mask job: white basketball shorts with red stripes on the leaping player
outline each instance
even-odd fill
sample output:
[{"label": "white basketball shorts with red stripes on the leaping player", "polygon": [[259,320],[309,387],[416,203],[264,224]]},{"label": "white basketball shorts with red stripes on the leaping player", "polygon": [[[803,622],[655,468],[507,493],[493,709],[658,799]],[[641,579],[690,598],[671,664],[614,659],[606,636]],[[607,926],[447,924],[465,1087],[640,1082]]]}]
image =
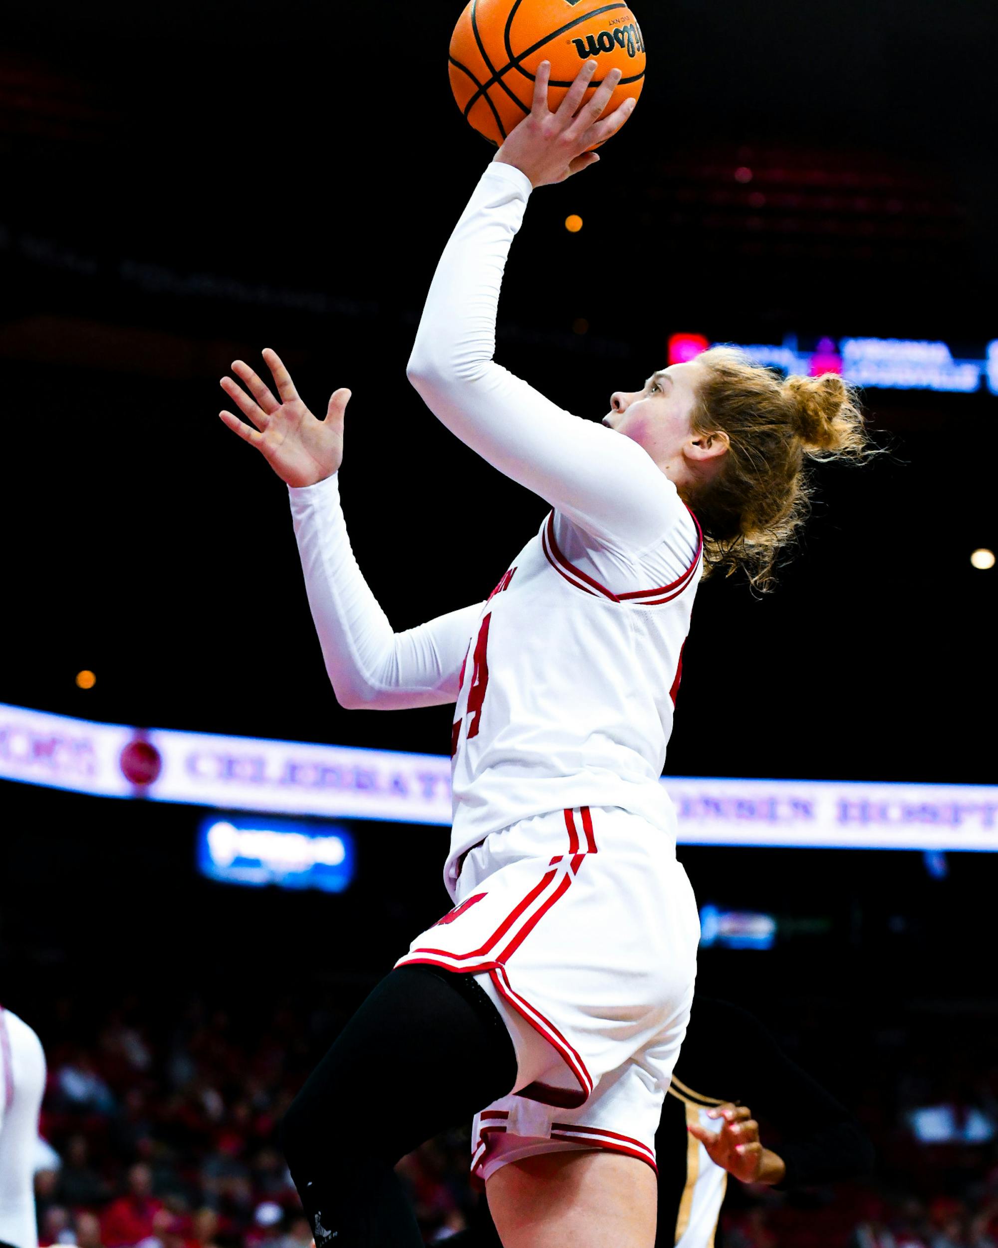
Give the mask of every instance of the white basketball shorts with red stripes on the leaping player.
[{"label": "white basketball shorts with red stripes on the leaping player", "polygon": [[397,965],[475,975],[513,1038],[516,1083],[475,1117],[473,1172],[578,1148],[654,1168],[700,940],[675,841],[618,807],[538,815],[470,850],[457,900]]}]

